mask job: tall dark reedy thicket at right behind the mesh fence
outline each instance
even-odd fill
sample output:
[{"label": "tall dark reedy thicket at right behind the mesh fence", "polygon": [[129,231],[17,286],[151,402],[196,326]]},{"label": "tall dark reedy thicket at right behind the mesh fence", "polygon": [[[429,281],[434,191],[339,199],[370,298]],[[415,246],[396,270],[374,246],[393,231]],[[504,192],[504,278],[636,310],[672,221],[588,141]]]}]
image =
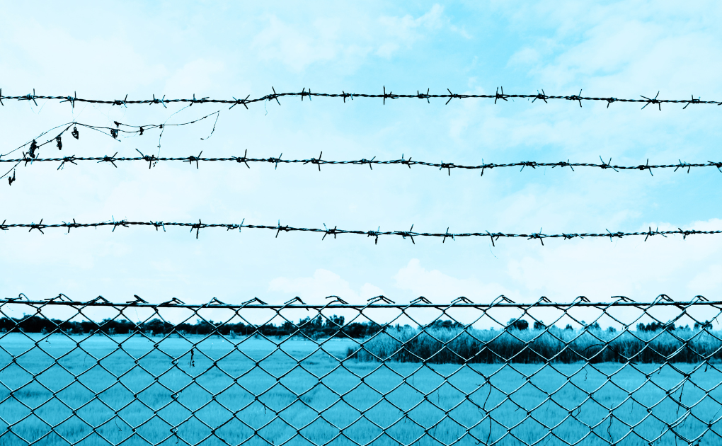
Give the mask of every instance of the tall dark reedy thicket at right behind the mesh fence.
[{"label": "tall dark reedy thicket at right behind the mesh fence", "polygon": [[[592,325],[593,326],[593,325]],[[680,336],[682,335],[682,336]],[[524,331],[474,328],[388,328],[349,348],[360,361],[495,362],[704,362],[722,359],[722,341],[706,331],[580,331],[549,327]]]}]

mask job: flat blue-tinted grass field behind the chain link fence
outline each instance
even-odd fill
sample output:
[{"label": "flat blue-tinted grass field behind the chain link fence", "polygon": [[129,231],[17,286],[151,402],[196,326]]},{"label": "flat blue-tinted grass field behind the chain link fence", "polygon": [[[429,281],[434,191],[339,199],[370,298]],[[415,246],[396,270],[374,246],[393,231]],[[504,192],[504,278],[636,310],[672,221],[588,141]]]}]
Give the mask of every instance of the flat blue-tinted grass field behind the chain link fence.
[{"label": "flat blue-tinted grass field behind the chain link fence", "polygon": [[178,337],[43,336],[0,337],[1,445],[687,444],[669,424],[722,442],[722,374],[699,364],[380,363],[346,359],[352,340],[219,336],[189,338],[191,362]]}]

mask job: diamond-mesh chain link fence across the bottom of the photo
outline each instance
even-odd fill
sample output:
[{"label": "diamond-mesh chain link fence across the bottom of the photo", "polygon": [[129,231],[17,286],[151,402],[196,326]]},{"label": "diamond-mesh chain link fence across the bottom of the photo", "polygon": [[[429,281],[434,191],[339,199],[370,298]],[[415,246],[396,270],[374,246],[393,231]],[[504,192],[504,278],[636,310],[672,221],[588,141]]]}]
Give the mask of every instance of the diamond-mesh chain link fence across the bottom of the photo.
[{"label": "diamond-mesh chain link fence across the bottom of the photo", "polygon": [[2,445],[714,445],[722,302],[0,300]]}]

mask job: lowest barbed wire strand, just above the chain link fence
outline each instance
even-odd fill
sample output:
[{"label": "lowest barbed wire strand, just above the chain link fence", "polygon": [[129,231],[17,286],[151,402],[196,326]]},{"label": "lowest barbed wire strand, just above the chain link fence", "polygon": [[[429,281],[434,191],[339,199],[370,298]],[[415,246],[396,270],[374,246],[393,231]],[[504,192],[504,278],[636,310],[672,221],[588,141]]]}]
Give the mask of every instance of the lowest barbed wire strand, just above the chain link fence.
[{"label": "lowest barbed wire strand, just above the chain link fence", "polygon": [[329,227],[326,226],[326,224],[323,224],[323,229],[321,228],[308,228],[308,227],[292,227],[289,225],[282,225],[281,221],[279,220],[278,224],[269,226],[265,224],[244,224],[245,219],[243,219],[240,224],[236,223],[203,223],[201,222],[201,219],[198,220],[198,223],[191,223],[191,222],[132,222],[126,219],[118,220],[112,219],[111,221],[105,221],[105,222],[96,222],[96,223],[78,223],[73,219],[73,222],[62,222],[62,223],[54,223],[54,224],[43,224],[43,219],[40,219],[39,223],[6,223],[7,220],[4,220],[2,223],[0,223],[0,230],[7,231],[12,228],[29,228],[28,232],[32,232],[33,229],[37,229],[41,233],[43,232],[43,229],[57,229],[57,228],[64,228],[68,229],[68,233],[70,233],[70,229],[73,228],[96,228],[97,227],[113,227],[113,232],[116,231],[118,227],[131,227],[131,226],[152,226],[155,227],[156,231],[158,229],[163,229],[163,232],[165,232],[165,227],[190,227],[191,233],[193,231],[196,231],[196,239],[199,237],[199,233],[201,229],[206,228],[225,228],[227,231],[238,229],[238,232],[240,232],[241,229],[269,229],[271,231],[276,231],[276,237],[279,236],[281,232],[316,232],[323,234],[323,237],[321,240],[326,240],[326,236],[333,235],[334,239],[336,238],[336,235],[344,235],[344,234],[352,234],[352,235],[365,235],[366,237],[373,237],[374,238],[374,244],[378,243],[378,237],[382,235],[396,235],[403,237],[404,240],[406,237],[409,237],[412,243],[414,242],[414,237],[440,237],[442,242],[445,242],[446,239],[456,240],[456,237],[489,237],[490,241],[492,242],[492,245],[495,245],[495,241],[499,240],[500,238],[526,238],[528,240],[539,240],[541,242],[541,245],[544,245],[544,239],[549,238],[562,238],[564,240],[570,240],[573,238],[599,238],[599,237],[609,237],[609,241],[612,241],[614,239],[619,239],[622,237],[640,237],[644,236],[644,240],[646,241],[649,237],[653,237],[655,235],[661,235],[662,237],[667,237],[668,235],[682,235],[683,238],[686,240],[687,236],[689,235],[714,235],[714,234],[722,234],[722,230],[710,230],[710,231],[702,231],[697,229],[671,229],[666,231],[660,231],[658,228],[655,230],[652,230],[651,227],[649,227],[649,230],[646,232],[611,232],[609,229],[606,230],[605,233],[593,233],[593,232],[583,232],[583,233],[562,233],[562,234],[544,234],[541,232],[541,229],[539,229],[539,232],[532,232],[531,234],[510,234],[505,232],[448,232],[448,227],[446,228],[445,232],[414,232],[414,225],[411,225],[411,229],[408,231],[382,231],[380,230],[380,227],[376,229],[375,231],[362,231],[358,229],[338,229],[338,227],[334,226],[333,229],[329,229]]}]

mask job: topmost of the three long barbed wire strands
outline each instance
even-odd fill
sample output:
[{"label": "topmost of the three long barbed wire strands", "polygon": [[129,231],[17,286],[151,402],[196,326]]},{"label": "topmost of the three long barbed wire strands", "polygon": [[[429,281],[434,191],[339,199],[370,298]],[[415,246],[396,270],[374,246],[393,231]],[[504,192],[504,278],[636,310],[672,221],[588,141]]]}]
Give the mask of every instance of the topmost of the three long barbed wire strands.
[{"label": "topmost of the three long barbed wire strands", "polygon": [[[38,102],[36,100],[59,100],[61,102],[70,102],[72,107],[75,107],[75,102],[88,102],[92,104],[108,104],[108,105],[120,105],[127,107],[130,104],[158,104],[162,105],[164,108],[168,108],[168,104],[173,103],[189,103],[191,105],[193,104],[205,104],[205,103],[212,103],[212,104],[230,104],[230,108],[235,107],[236,105],[243,105],[243,107],[248,108],[248,104],[253,104],[254,102],[263,102],[263,101],[276,101],[278,105],[281,105],[281,102],[279,101],[279,97],[300,97],[303,101],[304,97],[308,97],[309,100],[311,100],[312,97],[335,97],[335,98],[341,98],[346,102],[346,100],[354,100],[355,98],[364,97],[364,98],[370,98],[370,99],[381,99],[383,100],[383,104],[386,105],[386,100],[396,100],[396,99],[421,99],[426,100],[428,103],[430,103],[430,99],[436,98],[436,99],[442,99],[446,100],[446,104],[451,102],[453,99],[493,99],[494,103],[496,104],[499,100],[508,101],[509,99],[531,99],[531,102],[536,102],[536,100],[539,100],[540,102],[543,101],[547,103],[549,100],[568,100],[568,101],[574,101],[578,102],[579,106],[582,106],[582,101],[597,101],[597,102],[606,102],[606,107],[609,108],[609,105],[613,102],[632,102],[632,103],[643,103],[645,104],[642,108],[647,107],[647,105],[657,105],[659,110],[661,110],[661,104],[684,104],[684,108],[687,108],[690,104],[710,104],[710,105],[722,105],[722,101],[714,101],[714,100],[701,100],[700,97],[697,97],[695,99],[694,95],[691,95],[690,99],[659,99],[659,92],[654,97],[647,97],[640,95],[640,99],[635,98],[620,98],[620,97],[588,97],[588,96],[582,96],[582,90],[579,90],[578,95],[562,95],[562,96],[555,96],[555,95],[547,95],[544,93],[544,89],[541,89],[541,92],[537,90],[536,94],[531,95],[512,95],[504,92],[503,87],[497,87],[497,90],[495,94],[493,95],[474,95],[474,94],[458,94],[451,92],[451,89],[446,89],[448,91],[448,94],[442,93],[440,95],[434,95],[430,94],[430,89],[427,89],[425,93],[420,92],[417,90],[416,94],[395,94],[389,90],[386,92],[386,86],[383,86],[383,93],[347,93],[345,91],[342,91],[341,93],[314,93],[311,92],[310,89],[306,91],[304,88],[300,92],[276,92],[275,87],[271,87],[273,90],[273,93],[269,95],[264,95],[261,97],[256,97],[254,99],[251,99],[251,95],[247,95],[245,98],[241,97],[236,98],[232,97],[232,100],[228,99],[211,99],[209,97],[201,97],[196,98],[196,95],[193,95],[193,98],[178,98],[178,99],[165,99],[165,95],[163,95],[160,98],[155,97],[153,95],[152,99],[142,99],[142,100],[129,100],[128,95],[125,96],[122,100],[98,100],[98,99],[85,99],[82,97],[77,97],[77,92],[74,93],[74,95],[70,96],[47,96],[47,95],[37,95],[35,94],[35,89],[32,90],[32,94],[27,95],[19,95],[19,96],[3,96],[2,95],[2,89],[0,89],[0,104],[4,105],[2,103],[2,100],[27,100],[32,101],[35,103],[35,105],[38,105]],[[421,90],[423,91],[423,90]]]}]

